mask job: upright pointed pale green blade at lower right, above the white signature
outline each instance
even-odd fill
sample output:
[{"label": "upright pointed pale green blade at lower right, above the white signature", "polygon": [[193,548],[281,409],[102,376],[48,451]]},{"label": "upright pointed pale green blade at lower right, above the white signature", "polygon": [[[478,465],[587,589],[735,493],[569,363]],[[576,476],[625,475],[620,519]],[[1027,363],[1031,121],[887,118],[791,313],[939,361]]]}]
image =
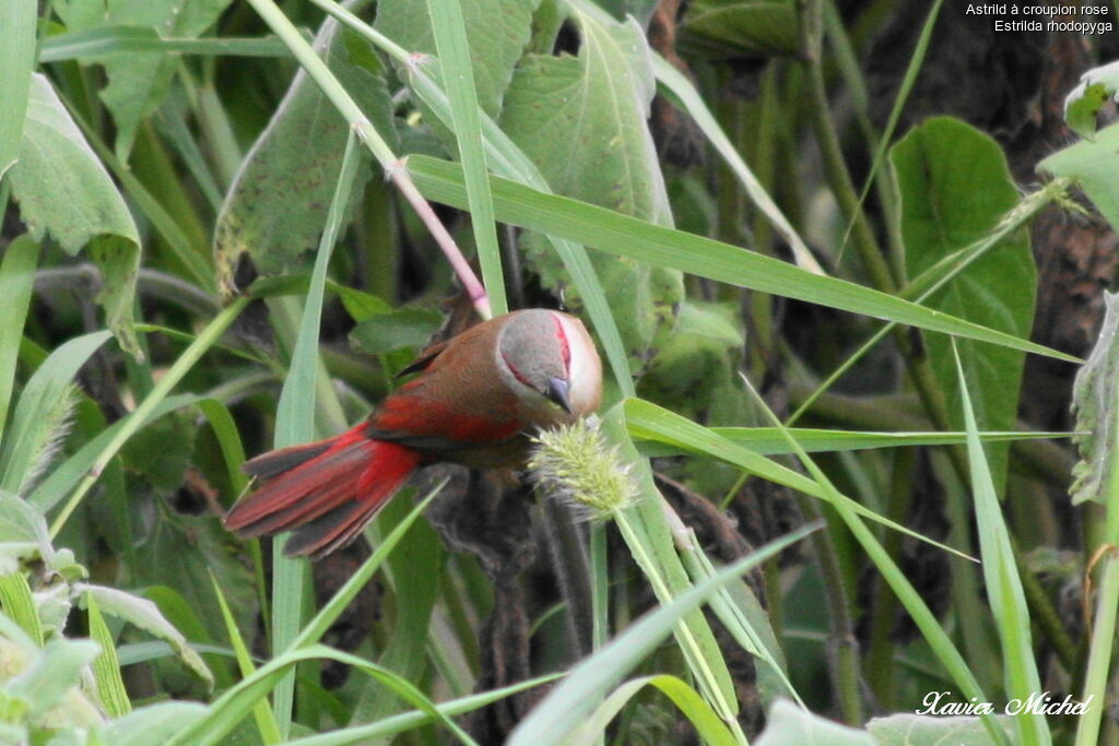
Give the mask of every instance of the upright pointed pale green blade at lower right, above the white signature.
[{"label": "upright pointed pale green blade at lower right, above the white signature", "polygon": [[[990,599],[1003,646],[1006,695],[1025,702],[1031,695],[1043,691],[1029,634],[1029,608],[1026,606],[1026,595],[1022,589],[1022,578],[1018,577],[1010,535],[1003,519],[1003,508],[995,494],[995,483],[987,465],[982,443],[979,441],[963,366],[960,363],[955,344],[952,351],[956,353],[956,371],[960,380],[960,397],[963,405],[963,425],[968,434],[968,462],[971,466],[971,490],[975,492],[979,553],[982,558],[987,597]],[[1053,740],[1049,725],[1041,714],[1023,709],[1015,716],[1015,724],[1022,738],[1021,743],[1027,746],[1033,744],[1047,746]]]}]

